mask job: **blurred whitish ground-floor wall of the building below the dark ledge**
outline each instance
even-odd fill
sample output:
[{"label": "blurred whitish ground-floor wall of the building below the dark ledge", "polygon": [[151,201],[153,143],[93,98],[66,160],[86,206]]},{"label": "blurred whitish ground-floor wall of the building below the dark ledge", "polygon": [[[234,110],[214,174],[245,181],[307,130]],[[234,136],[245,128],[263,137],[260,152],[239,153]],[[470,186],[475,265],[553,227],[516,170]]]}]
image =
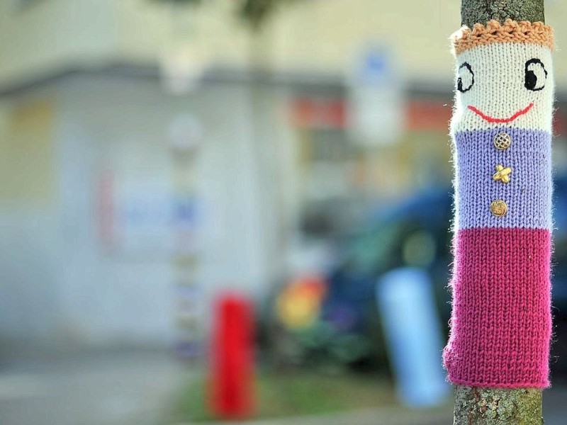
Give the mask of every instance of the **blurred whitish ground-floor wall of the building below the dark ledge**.
[{"label": "blurred whitish ground-floor wall of the building below the dark ledge", "polygon": [[[285,266],[282,227],[291,220],[281,199],[289,193],[282,161],[291,160],[284,147],[292,145],[281,113],[285,89],[252,94],[247,84],[217,84],[172,98],[153,79],[77,76],[42,92],[57,111],[55,195],[52,208],[28,214],[1,205],[0,294],[7,307],[0,309],[0,341],[18,334],[43,346],[173,343],[173,255],[167,243],[120,243],[120,222],[118,248],[109,250],[100,238],[98,191],[101,175],[111,171],[117,198],[167,196],[174,155],[168,126],[179,113],[193,113],[203,125],[203,302],[220,289],[252,296],[269,290]],[[24,97],[34,96],[40,94]],[[155,233],[166,242],[172,237],[161,227]],[[210,311],[203,319],[210,322]]]}]

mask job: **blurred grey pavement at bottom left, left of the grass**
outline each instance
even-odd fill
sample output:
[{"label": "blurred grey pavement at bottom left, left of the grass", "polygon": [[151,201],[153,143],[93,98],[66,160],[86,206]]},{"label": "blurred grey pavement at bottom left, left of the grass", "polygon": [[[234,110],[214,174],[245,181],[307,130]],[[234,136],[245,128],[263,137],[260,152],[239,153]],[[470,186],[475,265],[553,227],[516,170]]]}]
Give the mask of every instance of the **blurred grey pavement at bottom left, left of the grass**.
[{"label": "blurred grey pavement at bottom left, left of the grass", "polygon": [[157,425],[190,373],[164,351],[86,354],[0,370],[2,425]]}]

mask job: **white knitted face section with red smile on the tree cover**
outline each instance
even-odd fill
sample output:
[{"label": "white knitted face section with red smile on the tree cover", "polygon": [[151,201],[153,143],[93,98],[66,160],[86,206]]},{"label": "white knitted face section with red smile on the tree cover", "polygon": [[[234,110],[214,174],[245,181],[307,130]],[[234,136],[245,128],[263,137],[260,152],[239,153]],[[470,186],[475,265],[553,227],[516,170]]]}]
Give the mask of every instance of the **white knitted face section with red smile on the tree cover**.
[{"label": "white knitted face section with red smile on the tree cover", "polygon": [[[526,64],[537,76],[537,86],[541,90],[529,90],[525,84]],[[468,64],[472,74],[468,71]],[[535,44],[515,42],[480,45],[457,55],[456,84],[461,77],[462,89],[456,91],[454,115],[451,120],[451,133],[467,130],[489,130],[498,127],[544,130],[551,132],[551,116],[554,96],[554,76],[551,63],[551,50]],[[460,69],[459,69],[460,68]],[[546,70],[547,76],[543,69]],[[545,81],[544,81],[545,80]],[[532,107],[529,107],[533,103]],[[480,114],[468,108],[472,106],[484,115],[499,122],[491,123]],[[522,113],[526,108],[529,111]],[[509,122],[515,114],[522,113]]]}]

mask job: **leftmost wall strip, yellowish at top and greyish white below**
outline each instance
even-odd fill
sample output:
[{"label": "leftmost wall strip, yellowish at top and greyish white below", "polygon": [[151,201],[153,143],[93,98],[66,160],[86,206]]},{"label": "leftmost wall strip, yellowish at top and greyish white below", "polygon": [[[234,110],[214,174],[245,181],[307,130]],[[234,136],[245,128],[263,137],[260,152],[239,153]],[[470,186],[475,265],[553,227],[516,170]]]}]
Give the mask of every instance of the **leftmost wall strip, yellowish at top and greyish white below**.
[{"label": "leftmost wall strip, yellowish at top and greyish white below", "polygon": [[0,104],[0,356],[57,334],[55,112],[45,90]]}]

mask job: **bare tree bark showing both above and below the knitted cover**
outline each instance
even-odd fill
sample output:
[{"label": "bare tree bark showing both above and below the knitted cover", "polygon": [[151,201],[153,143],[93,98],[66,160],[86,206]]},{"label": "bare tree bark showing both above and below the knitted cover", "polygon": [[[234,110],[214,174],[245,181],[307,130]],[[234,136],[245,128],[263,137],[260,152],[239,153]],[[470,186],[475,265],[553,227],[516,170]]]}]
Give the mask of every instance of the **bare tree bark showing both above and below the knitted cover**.
[{"label": "bare tree bark showing both above and below the knitted cover", "polygon": [[[544,22],[544,0],[461,0],[461,24]],[[454,425],[541,425],[542,390],[455,385]]]}]

